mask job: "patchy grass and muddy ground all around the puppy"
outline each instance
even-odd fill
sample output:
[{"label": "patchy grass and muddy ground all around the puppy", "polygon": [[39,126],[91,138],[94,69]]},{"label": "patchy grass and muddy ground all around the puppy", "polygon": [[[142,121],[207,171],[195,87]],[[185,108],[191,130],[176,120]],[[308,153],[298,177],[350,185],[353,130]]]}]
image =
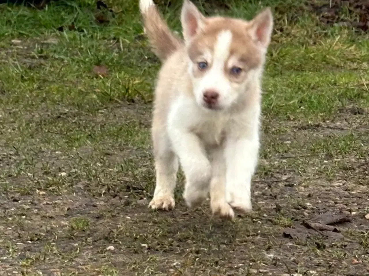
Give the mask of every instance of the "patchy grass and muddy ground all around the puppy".
[{"label": "patchy grass and muddy ground all around the puppy", "polygon": [[[259,2],[196,4],[250,19]],[[262,4],[276,21],[255,210],[232,223],[188,210],[181,187],[172,212],[147,208],[160,64],[136,1],[108,1],[103,24],[90,0],[0,5],[0,275],[368,275],[368,34],[296,17],[301,1]],[[282,236],[327,211],[353,216],[341,240]]]}]

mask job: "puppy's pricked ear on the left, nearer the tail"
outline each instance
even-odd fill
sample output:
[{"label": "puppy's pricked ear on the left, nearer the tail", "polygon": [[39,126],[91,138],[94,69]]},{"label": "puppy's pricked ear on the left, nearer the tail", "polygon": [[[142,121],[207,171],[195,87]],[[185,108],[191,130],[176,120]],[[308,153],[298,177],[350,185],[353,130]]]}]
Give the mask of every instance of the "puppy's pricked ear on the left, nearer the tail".
[{"label": "puppy's pricked ear on the left, nearer the tail", "polygon": [[204,27],[204,15],[190,0],[184,0],[183,2],[181,24],[186,44]]}]

